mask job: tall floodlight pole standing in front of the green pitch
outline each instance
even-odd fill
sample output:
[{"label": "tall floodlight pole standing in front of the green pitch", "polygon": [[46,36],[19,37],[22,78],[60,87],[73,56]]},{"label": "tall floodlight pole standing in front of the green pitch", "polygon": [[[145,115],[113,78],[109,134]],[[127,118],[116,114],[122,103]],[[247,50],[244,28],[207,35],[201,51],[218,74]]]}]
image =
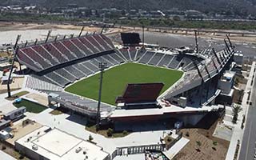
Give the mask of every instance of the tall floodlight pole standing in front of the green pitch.
[{"label": "tall floodlight pole standing in front of the green pitch", "polygon": [[104,70],[106,69],[106,62],[99,62],[98,67],[101,71],[101,77],[100,77],[100,80],[99,80],[99,90],[98,90],[98,110],[97,110],[97,124],[96,124],[96,130],[97,131],[99,130],[99,122],[100,122],[100,119],[101,119],[100,109],[101,109],[101,101],[102,101],[102,80],[103,80]]}]

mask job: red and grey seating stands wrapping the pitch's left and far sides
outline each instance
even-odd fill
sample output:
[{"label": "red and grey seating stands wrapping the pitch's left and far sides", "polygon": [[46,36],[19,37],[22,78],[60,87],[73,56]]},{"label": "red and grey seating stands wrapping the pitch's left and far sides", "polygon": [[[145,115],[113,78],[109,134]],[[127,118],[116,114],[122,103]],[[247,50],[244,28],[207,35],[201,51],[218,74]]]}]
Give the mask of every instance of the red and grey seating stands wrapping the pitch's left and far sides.
[{"label": "red and grey seating stands wrapping the pitch's left and far sides", "polygon": [[[224,62],[222,56],[222,54],[218,54],[221,63]],[[160,52],[135,47],[118,50],[103,34],[91,34],[27,46],[18,50],[17,58],[19,62],[35,71],[33,78],[29,79],[32,85],[27,87],[43,90],[43,86],[45,86],[46,90],[53,91],[60,90],[58,87],[65,87],[81,78],[97,73],[99,62],[106,62],[108,68],[122,62],[139,62],[152,66],[194,71],[194,61],[198,64],[202,61],[202,58],[197,58],[194,55],[177,54],[169,50]],[[214,57],[213,61],[207,64],[207,70],[205,66],[200,66],[200,70],[202,76],[208,78],[207,71],[210,72],[210,76],[213,76],[216,73],[216,68],[220,67],[221,64]]]}]

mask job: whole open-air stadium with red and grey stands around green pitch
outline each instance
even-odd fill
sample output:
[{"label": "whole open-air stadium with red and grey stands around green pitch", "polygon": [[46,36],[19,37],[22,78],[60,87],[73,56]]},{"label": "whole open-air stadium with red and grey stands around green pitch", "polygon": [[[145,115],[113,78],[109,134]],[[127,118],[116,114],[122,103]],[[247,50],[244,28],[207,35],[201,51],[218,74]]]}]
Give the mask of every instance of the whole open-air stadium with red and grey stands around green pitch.
[{"label": "whole open-air stadium with red and grey stands around green pitch", "polygon": [[222,96],[218,82],[233,62],[230,41],[224,50],[196,52],[150,47],[139,44],[138,35],[124,35],[122,46],[96,33],[20,44],[15,60],[26,69],[19,74],[26,74],[27,88],[48,94],[49,104],[95,120],[104,72],[100,122],[115,130],[170,118],[195,125],[223,110],[216,100]]}]

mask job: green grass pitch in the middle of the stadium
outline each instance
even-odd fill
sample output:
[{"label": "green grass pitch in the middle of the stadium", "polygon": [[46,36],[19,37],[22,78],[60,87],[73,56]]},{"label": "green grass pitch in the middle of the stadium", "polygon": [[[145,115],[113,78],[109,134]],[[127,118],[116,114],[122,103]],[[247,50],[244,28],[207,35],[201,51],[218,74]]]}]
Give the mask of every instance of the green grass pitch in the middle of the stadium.
[{"label": "green grass pitch in the middle of the stadium", "polygon": [[[138,63],[126,63],[106,70],[103,75],[102,102],[115,105],[115,99],[121,96],[128,83],[163,82],[161,94],[170,88],[179,78],[182,71],[146,66]],[[66,88],[67,92],[86,98],[98,100],[100,74],[76,82]]]}]

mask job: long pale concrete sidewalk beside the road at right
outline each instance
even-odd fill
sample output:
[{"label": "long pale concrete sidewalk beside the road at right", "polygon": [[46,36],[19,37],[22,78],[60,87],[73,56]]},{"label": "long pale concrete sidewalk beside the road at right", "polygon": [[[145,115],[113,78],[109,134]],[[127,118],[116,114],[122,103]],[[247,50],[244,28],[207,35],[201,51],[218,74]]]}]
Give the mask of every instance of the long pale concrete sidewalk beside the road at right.
[{"label": "long pale concrete sidewalk beside the road at right", "polygon": [[[250,91],[252,89],[252,81],[254,78],[254,69],[256,68],[256,62],[253,62],[251,69],[250,69],[250,74],[248,77],[248,81],[246,83],[246,89],[244,92],[244,96],[242,98],[242,111],[239,112],[238,114],[238,122],[237,124],[234,126],[234,132],[232,134],[232,138],[230,140],[230,146],[229,146],[229,150],[227,151],[226,154],[226,160],[230,160],[230,159],[234,159],[234,154],[235,154],[235,150],[236,150],[236,146],[238,143],[238,140],[240,141],[240,146],[242,144],[242,136],[243,136],[243,132],[244,130],[241,129],[241,125],[242,125],[242,115],[247,115],[248,112],[248,107],[249,104],[247,104],[247,99],[250,96]],[[247,117],[247,116],[246,116]],[[246,124],[246,122],[245,122]],[[239,157],[239,153],[238,153],[238,157]]]}]

